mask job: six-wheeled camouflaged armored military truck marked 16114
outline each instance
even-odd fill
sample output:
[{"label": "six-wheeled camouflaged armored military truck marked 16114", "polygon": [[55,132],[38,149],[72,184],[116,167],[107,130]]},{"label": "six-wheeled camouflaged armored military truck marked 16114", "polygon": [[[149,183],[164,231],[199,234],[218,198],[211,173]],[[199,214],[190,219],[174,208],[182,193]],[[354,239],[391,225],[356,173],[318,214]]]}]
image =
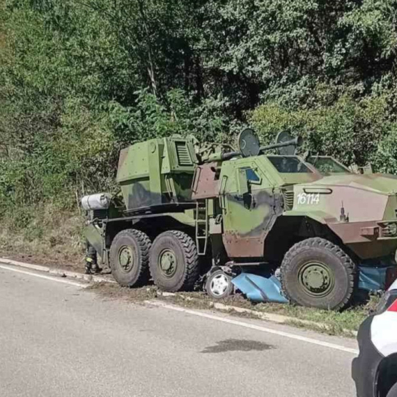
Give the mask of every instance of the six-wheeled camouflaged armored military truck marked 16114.
[{"label": "six-wheeled camouflaged armored military truck marked 16114", "polygon": [[242,269],[279,267],[291,302],[342,309],[359,266],[395,268],[397,177],[299,157],[300,143],[279,134],[260,146],[249,129],[238,150],[194,137],[136,143],[120,152],[120,192],[85,198],[86,238],[121,286],[151,277],[162,290],[191,290],[205,278],[224,297]]}]

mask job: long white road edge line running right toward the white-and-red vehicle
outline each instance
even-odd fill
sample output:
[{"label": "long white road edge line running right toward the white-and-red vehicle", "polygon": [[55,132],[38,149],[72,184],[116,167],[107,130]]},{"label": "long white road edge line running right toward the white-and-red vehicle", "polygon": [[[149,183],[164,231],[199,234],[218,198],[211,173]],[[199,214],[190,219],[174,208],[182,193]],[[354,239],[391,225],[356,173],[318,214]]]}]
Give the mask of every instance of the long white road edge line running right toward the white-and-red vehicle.
[{"label": "long white road edge line running right toward the white-and-red vehicle", "polygon": [[260,325],[250,324],[249,322],[242,322],[242,321],[238,321],[238,320],[232,320],[231,318],[213,316],[212,314],[203,313],[201,311],[184,309],[182,307],[172,306],[170,304],[166,304],[163,302],[155,302],[155,301],[148,300],[148,301],[146,301],[146,303],[153,305],[153,306],[163,307],[164,309],[170,309],[170,310],[180,311],[182,313],[192,314],[192,316],[210,318],[210,320],[227,322],[228,324],[239,325],[240,327],[256,329],[256,331],[267,332],[267,334],[275,334],[275,335],[283,336],[285,338],[295,339],[296,341],[307,342],[307,343],[311,343],[313,345],[319,345],[319,346],[322,346],[325,348],[340,350],[341,352],[352,353],[353,355],[359,354],[359,351],[356,349],[345,348],[345,346],[336,345],[335,343],[318,341],[317,339],[306,338],[306,336],[300,336],[300,335],[290,334],[289,332],[277,331],[276,329],[261,327]]}]

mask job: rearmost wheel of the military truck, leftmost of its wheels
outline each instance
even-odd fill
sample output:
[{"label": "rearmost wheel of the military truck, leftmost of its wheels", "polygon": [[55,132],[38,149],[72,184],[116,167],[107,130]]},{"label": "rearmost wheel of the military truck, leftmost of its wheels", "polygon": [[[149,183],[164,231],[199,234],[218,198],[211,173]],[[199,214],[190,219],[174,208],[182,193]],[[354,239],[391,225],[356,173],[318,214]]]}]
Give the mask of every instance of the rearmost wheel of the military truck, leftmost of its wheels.
[{"label": "rearmost wheel of the military truck, leftmost of its wheels", "polygon": [[110,268],[123,287],[143,286],[149,280],[148,236],[136,229],[120,231],[110,247]]}]

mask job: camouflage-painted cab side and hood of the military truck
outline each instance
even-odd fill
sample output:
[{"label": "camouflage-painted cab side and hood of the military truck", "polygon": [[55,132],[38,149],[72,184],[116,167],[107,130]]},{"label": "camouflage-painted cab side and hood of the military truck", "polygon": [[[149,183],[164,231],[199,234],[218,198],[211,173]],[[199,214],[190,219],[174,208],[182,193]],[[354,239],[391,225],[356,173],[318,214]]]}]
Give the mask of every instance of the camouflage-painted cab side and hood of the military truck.
[{"label": "camouflage-painted cab side and hood of the military truck", "polygon": [[[322,176],[307,165],[307,173],[280,173],[266,155],[222,164],[219,196],[228,256],[263,257],[267,235],[278,217],[313,219],[362,259],[394,254],[397,177],[353,173]],[[240,182],[241,169],[254,171],[256,180],[248,177]],[[292,204],[289,208],[288,201]],[[384,235],[388,224],[395,224],[395,235]]]}]

